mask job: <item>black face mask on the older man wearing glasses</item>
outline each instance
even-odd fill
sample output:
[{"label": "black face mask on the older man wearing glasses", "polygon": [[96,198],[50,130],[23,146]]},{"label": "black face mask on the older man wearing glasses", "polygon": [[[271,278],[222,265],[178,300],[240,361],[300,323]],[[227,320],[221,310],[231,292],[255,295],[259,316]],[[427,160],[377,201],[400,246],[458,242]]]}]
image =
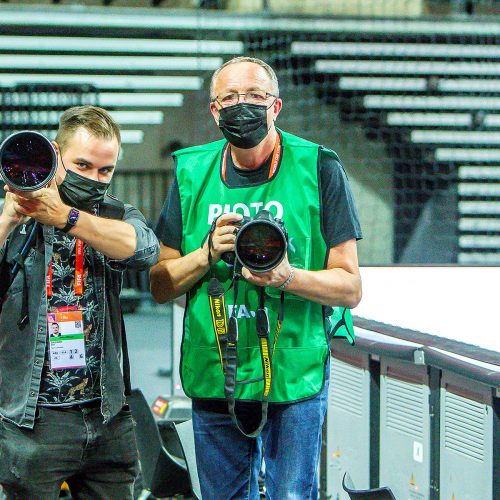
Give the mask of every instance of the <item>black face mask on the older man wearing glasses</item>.
[{"label": "black face mask on the older man wearing glasses", "polygon": [[[271,104],[272,106],[272,104]],[[219,128],[230,144],[241,149],[250,149],[266,137],[267,106],[240,102],[219,109]]]}]

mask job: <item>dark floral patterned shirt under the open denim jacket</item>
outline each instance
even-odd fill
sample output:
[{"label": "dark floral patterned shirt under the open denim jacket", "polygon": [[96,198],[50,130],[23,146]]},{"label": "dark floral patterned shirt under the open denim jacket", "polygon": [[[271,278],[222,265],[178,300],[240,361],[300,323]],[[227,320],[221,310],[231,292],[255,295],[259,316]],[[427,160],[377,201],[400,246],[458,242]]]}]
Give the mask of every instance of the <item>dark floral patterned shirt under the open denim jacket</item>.
[{"label": "dark floral patterned shirt under the open denim jacket", "polygon": [[99,325],[99,301],[94,286],[93,252],[85,245],[83,294],[75,295],[76,239],[58,229],[54,232],[52,258],[52,296],[48,312],[67,309],[81,310],[85,336],[87,366],[72,369],[50,369],[49,342],[45,350],[38,404],[42,406],[69,406],[100,398],[102,329]]}]

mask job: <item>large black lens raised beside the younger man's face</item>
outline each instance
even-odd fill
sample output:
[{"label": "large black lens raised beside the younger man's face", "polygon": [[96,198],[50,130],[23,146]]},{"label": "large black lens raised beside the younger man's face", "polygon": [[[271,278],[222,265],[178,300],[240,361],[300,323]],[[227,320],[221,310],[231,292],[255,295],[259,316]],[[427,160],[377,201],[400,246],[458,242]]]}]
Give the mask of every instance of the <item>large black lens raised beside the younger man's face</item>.
[{"label": "large black lens raised beside the younger man's face", "polygon": [[50,182],[57,156],[50,141],[38,132],[16,132],[0,146],[0,174],[18,191],[36,191]]}]

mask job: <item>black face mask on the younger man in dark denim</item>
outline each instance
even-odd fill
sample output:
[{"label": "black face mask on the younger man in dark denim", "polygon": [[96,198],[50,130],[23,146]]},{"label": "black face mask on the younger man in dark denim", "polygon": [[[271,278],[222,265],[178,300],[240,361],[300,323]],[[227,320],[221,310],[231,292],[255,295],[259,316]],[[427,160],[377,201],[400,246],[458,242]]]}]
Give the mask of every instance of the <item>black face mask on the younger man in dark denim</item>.
[{"label": "black face mask on the younger man in dark denim", "polygon": [[94,181],[72,170],[66,170],[66,177],[59,185],[62,200],[70,207],[92,212],[104,200],[109,183]]}]

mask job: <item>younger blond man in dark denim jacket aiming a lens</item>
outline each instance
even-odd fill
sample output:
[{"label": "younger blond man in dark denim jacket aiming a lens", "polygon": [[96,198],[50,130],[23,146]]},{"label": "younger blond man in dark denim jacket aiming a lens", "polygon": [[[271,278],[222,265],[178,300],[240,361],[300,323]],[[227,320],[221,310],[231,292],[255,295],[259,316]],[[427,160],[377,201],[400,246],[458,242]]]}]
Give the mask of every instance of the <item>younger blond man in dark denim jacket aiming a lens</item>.
[{"label": "younger blond man in dark denim jacket aiming a lens", "polygon": [[[157,260],[142,214],[107,194],[120,130],[70,108],[53,143],[55,178],[7,191],[0,271],[21,261],[0,313],[0,484],[8,499],[132,498],[138,472],[121,372],[121,274]],[[51,337],[49,324],[64,332]]]}]

